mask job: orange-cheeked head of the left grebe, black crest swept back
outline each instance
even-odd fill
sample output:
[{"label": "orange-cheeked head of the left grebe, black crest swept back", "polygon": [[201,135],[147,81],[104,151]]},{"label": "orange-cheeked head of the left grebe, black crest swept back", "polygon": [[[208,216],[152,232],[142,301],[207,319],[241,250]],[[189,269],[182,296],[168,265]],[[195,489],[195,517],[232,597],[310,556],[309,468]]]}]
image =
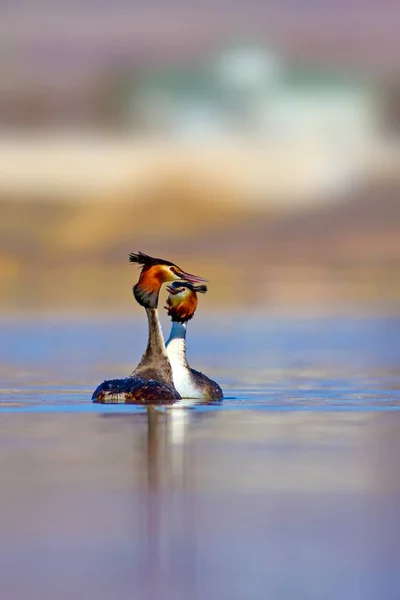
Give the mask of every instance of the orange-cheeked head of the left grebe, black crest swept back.
[{"label": "orange-cheeked head of the left grebe, black crest swept back", "polygon": [[158,294],[163,283],[185,280],[189,284],[207,281],[186,273],[174,263],[162,258],[152,258],[143,252],[131,253],[129,260],[142,265],[138,283],[133,288],[136,300],[145,308],[157,308]]}]

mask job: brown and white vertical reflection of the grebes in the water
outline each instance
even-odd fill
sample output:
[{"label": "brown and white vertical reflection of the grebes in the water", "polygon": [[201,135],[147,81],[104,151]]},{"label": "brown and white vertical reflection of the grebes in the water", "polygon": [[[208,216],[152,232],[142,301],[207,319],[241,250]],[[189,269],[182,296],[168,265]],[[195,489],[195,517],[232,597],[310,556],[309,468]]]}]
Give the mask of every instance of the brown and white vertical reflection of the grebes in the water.
[{"label": "brown and white vertical reflection of the grebes in the water", "polygon": [[[194,419],[208,418],[213,413],[196,412],[196,404],[199,402],[186,400],[168,408],[146,407],[140,465],[136,462],[135,440],[134,489],[138,468],[143,482],[138,530],[134,534],[139,533],[140,539],[135,586],[140,582],[141,597],[149,600],[163,597],[166,589],[174,593],[171,597],[197,589],[197,461],[193,440],[188,440]],[[143,416],[140,413],[130,418],[143,422]]]}]

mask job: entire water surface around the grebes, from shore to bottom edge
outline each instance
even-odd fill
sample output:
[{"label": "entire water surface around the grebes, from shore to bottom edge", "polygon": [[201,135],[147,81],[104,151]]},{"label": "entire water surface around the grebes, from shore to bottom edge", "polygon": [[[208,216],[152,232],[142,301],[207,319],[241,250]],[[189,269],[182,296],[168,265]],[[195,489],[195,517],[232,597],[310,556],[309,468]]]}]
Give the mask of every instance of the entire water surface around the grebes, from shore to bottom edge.
[{"label": "entire water surface around the grebes, from shore to bottom edge", "polygon": [[[167,324],[165,324],[165,330]],[[190,324],[218,405],[94,405],[143,322],[0,323],[7,600],[398,600],[400,321]]]}]

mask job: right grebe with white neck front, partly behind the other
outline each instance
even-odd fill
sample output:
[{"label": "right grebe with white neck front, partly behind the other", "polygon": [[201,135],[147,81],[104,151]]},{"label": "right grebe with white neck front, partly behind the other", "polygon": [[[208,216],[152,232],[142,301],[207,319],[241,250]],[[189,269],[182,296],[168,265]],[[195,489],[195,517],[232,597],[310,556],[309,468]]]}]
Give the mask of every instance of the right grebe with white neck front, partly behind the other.
[{"label": "right grebe with white neck front, partly behind the other", "polygon": [[176,281],[167,287],[168,314],[172,320],[171,333],[166,348],[172,367],[175,389],[182,398],[221,400],[223,393],[218,383],[203,373],[191,369],[186,359],[187,322],[193,318],[197,308],[197,293],[205,294],[207,286],[192,282]]}]

